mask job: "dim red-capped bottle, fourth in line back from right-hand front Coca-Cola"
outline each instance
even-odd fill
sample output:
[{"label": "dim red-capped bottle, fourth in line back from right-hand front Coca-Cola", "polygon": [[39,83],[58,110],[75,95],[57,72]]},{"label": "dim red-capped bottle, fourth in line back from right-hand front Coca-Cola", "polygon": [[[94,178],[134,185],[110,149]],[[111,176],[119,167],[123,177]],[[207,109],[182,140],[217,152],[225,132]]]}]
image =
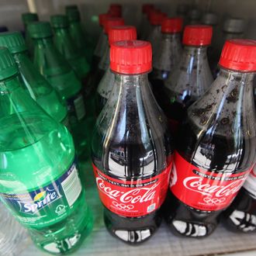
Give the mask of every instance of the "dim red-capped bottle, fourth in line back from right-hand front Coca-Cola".
[{"label": "dim red-capped bottle, fourth in line back from right-hand front Coca-Cola", "polygon": [[150,12],[150,33],[147,36],[147,41],[152,44],[152,54],[156,53],[161,41],[161,23],[167,15],[164,12],[154,10]]}]

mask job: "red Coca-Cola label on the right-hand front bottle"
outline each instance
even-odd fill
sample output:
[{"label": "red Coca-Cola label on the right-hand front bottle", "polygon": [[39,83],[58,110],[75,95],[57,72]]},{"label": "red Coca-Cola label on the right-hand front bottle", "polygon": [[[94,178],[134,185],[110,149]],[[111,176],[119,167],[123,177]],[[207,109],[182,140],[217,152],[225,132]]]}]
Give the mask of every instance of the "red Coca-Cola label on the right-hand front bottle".
[{"label": "red Coca-Cola label on the right-hand front bottle", "polygon": [[230,205],[251,169],[223,174],[195,167],[175,152],[171,172],[171,192],[186,205],[216,211]]}]

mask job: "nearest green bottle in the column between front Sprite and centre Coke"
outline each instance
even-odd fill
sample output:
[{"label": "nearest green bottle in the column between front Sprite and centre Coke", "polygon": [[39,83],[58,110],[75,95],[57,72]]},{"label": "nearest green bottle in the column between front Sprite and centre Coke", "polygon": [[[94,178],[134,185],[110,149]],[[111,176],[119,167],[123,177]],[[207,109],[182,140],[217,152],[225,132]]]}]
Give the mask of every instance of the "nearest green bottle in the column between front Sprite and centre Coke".
[{"label": "nearest green bottle in the column between front Sprite and centre Coke", "polygon": [[29,23],[29,34],[33,38],[34,64],[40,74],[50,82],[61,98],[67,102],[67,111],[78,156],[85,160],[89,156],[87,142],[88,127],[85,120],[85,103],[78,80],[71,66],[54,46],[49,22]]}]

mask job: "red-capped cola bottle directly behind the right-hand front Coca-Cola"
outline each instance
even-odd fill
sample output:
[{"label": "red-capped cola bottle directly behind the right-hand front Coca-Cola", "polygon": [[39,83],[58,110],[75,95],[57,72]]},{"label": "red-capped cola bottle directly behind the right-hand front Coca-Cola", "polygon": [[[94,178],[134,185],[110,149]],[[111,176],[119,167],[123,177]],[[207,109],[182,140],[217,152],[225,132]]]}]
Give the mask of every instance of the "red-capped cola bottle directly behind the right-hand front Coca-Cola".
[{"label": "red-capped cola bottle directly behind the right-hand front Coca-Cola", "polygon": [[164,81],[165,93],[161,102],[173,132],[178,130],[179,123],[185,118],[186,109],[213,82],[207,59],[207,47],[211,43],[212,33],[211,26],[185,26],[182,57]]}]

